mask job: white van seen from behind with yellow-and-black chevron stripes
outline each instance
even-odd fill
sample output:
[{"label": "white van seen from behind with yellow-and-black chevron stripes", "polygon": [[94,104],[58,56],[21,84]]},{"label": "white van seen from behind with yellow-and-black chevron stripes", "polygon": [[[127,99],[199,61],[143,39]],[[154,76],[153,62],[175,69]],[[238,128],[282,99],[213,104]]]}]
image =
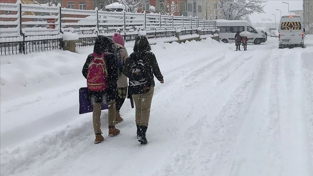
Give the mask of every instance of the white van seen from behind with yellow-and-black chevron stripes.
[{"label": "white van seen from behind with yellow-and-black chevron stripes", "polygon": [[304,28],[300,15],[285,15],[280,19],[278,34],[279,48],[304,48]]}]

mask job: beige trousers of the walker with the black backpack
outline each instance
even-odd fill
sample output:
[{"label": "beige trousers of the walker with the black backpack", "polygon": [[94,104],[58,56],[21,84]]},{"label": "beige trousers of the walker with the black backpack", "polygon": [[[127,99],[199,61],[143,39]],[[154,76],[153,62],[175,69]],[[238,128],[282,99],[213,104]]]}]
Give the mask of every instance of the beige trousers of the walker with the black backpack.
[{"label": "beige trousers of the walker with the black backpack", "polygon": [[148,127],[153,93],[154,87],[151,87],[147,93],[133,95],[136,106],[136,125]]}]

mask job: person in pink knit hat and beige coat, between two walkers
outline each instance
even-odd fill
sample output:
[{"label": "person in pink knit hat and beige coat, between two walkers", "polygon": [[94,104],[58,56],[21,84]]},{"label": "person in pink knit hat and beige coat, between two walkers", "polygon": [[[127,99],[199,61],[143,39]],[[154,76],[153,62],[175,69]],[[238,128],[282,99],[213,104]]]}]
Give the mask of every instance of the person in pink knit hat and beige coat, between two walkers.
[{"label": "person in pink knit hat and beige coat, between two walkers", "polygon": [[118,70],[119,70],[119,78],[117,80],[117,90],[118,97],[116,98],[116,123],[120,123],[123,121],[123,118],[120,114],[120,109],[126,99],[127,96],[127,77],[123,74],[124,63],[126,58],[128,57],[127,50],[125,48],[124,38],[121,34],[115,33],[112,37],[112,40],[115,43],[115,47],[117,50],[117,60],[118,60]]}]

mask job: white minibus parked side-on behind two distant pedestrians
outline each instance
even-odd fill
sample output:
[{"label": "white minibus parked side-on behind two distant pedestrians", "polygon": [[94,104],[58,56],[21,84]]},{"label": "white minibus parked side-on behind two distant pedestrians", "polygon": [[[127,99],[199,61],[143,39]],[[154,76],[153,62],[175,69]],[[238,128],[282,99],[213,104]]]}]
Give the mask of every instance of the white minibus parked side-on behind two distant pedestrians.
[{"label": "white minibus parked side-on behind two distant pedestrians", "polygon": [[218,19],[217,27],[219,28],[219,38],[222,42],[235,42],[237,32],[248,31],[251,33],[248,43],[261,44],[266,41],[265,35],[255,29],[248,21],[245,20],[224,20]]}]

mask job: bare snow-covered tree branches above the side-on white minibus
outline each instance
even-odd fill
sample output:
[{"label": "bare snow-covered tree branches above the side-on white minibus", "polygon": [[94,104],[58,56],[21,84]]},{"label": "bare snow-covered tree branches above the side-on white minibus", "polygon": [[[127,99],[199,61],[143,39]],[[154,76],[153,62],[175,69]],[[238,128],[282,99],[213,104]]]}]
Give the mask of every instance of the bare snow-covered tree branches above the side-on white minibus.
[{"label": "bare snow-covered tree branches above the side-on white minibus", "polygon": [[252,13],[264,13],[264,0],[220,0],[217,10],[227,20],[241,20]]}]

